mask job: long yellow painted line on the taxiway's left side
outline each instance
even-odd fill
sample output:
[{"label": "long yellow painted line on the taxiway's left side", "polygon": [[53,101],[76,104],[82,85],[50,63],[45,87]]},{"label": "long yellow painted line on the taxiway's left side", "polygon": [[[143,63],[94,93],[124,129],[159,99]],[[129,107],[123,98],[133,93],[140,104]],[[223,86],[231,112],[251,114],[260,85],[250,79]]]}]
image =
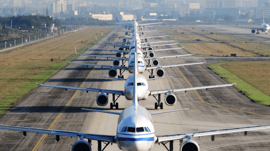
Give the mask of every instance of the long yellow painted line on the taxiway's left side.
[{"label": "long yellow painted line on the taxiway's left side", "polygon": [[[107,51],[106,51],[107,53]],[[105,53],[105,54],[106,54]],[[101,59],[100,59],[101,60]],[[100,62],[99,60],[99,62]],[[97,62],[97,64],[99,64],[99,62]],[[94,67],[95,68],[95,67]],[[92,74],[92,72],[94,71],[94,68],[92,69],[92,71],[89,73],[89,75],[85,78],[85,81],[83,81],[83,83],[80,85],[80,87],[82,87],[85,83],[86,83],[86,79],[88,79],[90,77],[90,75]],[[56,124],[56,122],[60,119],[60,117],[63,115],[63,113],[65,112],[66,108],[70,105],[70,103],[73,101],[73,99],[76,97],[76,95],[78,94],[80,90],[77,90],[75,92],[75,94],[72,96],[72,98],[68,101],[68,103],[66,104],[65,108],[63,108],[63,110],[59,113],[59,115],[56,117],[56,119],[53,121],[52,125],[50,125],[50,127],[48,129],[52,129],[53,126]],[[36,144],[36,146],[33,148],[32,151],[36,151],[38,149],[38,147],[41,145],[41,143],[45,140],[45,138],[47,137],[47,134],[44,134],[42,136],[42,138],[39,140],[39,142]]]}]

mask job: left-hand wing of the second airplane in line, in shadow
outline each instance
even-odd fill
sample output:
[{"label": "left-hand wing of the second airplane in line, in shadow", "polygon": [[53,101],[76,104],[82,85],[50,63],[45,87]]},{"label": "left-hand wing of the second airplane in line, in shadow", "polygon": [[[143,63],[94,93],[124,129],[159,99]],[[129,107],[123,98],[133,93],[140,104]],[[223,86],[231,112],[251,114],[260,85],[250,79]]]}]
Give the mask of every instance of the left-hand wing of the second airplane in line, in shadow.
[{"label": "left-hand wing of the second airplane in line, in shadow", "polygon": [[92,92],[103,92],[103,93],[110,93],[110,94],[118,94],[124,95],[124,91],[118,90],[105,90],[105,89],[97,89],[97,88],[82,88],[82,87],[70,87],[70,86],[61,86],[61,85],[48,85],[48,84],[38,84],[42,87],[53,87],[53,88],[63,88],[63,89],[72,89],[72,90],[83,90],[83,91],[92,91]]}]

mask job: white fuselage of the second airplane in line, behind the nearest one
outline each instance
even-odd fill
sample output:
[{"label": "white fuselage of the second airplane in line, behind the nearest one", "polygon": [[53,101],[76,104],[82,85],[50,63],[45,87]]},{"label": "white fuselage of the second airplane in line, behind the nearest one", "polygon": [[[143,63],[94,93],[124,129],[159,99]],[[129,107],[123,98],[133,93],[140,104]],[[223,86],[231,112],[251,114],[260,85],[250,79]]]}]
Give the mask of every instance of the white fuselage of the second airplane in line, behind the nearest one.
[{"label": "white fuselage of the second airplane in line, behind the nearest one", "polygon": [[[146,78],[141,74],[137,74],[137,87],[138,100],[146,100],[150,94],[150,91],[148,90],[148,83]],[[124,94],[126,99],[133,99],[133,74],[130,75],[126,80]]]}]

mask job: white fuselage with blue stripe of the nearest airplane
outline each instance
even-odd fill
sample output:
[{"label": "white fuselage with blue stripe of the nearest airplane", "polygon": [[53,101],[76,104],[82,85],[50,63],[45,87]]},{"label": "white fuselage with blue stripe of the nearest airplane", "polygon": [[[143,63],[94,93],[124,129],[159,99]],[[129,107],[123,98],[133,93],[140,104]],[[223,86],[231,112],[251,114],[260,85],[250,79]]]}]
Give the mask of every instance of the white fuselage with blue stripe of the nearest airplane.
[{"label": "white fuselage with blue stripe of the nearest airplane", "polygon": [[118,118],[116,142],[124,151],[150,150],[157,140],[152,117],[144,107],[137,106],[136,111],[134,108],[132,105],[121,112]]}]

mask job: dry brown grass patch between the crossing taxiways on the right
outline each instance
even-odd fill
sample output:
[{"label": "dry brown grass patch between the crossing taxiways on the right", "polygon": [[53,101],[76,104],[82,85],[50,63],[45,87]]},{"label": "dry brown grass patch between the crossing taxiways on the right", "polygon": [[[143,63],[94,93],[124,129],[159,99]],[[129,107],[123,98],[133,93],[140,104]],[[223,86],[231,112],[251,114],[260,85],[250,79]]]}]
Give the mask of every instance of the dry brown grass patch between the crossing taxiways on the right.
[{"label": "dry brown grass patch between the crossing taxiways on the right", "polygon": [[258,57],[257,54],[242,51],[241,49],[234,48],[224,43],[187,43],[180,44],[188,52],[194,52],[197,47],[196,54],[213,55],[213,56],[231,56],[231,54],[237,54],[240,56]]}]

